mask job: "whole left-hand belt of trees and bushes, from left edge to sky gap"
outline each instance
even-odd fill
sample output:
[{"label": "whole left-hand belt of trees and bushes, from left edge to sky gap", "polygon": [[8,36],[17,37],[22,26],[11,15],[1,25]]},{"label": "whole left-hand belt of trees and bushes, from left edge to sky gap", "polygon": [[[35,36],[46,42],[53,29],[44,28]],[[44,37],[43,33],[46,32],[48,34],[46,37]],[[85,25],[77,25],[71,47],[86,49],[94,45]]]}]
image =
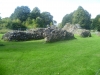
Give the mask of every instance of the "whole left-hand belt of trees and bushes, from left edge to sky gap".
[{"label": "whole left-hand belt of trees and bushes, from left edge to sky gap", "polygon": [[32,11],[28,6],[18,6],[10,17],[0,19],[0,28],[26,29],[46,27],[56,22],[49,12],[40,12],[38,7]]}]

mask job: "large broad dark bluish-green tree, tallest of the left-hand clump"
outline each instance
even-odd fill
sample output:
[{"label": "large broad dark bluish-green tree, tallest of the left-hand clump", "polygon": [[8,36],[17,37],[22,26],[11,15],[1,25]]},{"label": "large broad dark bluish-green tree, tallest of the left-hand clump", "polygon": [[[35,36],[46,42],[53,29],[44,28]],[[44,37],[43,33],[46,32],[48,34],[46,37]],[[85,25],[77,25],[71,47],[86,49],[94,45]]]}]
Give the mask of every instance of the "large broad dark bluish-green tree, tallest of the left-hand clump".
[{"label": "large broad dark bluish-green tree, tallest of the left-hand clump", "polygon": [[23,22],[27,19],[29,14],[30,14],[30,8],[28,8],[28,6],[21,6],[21,7],[18,6],[15,9],[14,13],[11,14],[10,18],[19,19]]}]

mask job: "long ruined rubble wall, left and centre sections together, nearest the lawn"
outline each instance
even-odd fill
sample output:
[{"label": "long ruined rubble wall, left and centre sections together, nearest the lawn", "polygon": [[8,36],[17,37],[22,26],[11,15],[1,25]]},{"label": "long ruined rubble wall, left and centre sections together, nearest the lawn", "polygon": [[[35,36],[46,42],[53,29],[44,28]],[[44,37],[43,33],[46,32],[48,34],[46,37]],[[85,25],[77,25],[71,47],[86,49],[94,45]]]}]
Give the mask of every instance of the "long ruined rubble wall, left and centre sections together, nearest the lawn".
[{"label": "long ruined rubble wall, left and centre sections together, nearest the lawn", "polygon": [[5,41],[27,41],[45,39],[45,42],[73,39],[74,34],[62,29],[37,28],[27,31],[11,31],[3,35]]}]

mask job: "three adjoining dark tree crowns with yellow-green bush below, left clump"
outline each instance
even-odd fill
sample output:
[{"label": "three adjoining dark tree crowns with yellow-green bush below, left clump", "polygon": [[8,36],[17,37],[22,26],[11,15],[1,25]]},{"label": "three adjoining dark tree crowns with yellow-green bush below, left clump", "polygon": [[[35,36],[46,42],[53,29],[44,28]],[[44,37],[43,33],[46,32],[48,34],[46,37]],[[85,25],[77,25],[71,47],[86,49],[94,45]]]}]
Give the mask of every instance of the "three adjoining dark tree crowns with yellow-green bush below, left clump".
[{"label": "three adjoining dark tree crowns with yellow-green bush below, left clump", "polygon": [[14,13],[10,16],[12,20],[19,19],[22,25],[32,27],[46,27],[47,25],[53,24],[53,16],[49,12],[40,12],[38,7],[33,8],[30,12],[30,8],[27,6],[21,6],[15,8]]}]

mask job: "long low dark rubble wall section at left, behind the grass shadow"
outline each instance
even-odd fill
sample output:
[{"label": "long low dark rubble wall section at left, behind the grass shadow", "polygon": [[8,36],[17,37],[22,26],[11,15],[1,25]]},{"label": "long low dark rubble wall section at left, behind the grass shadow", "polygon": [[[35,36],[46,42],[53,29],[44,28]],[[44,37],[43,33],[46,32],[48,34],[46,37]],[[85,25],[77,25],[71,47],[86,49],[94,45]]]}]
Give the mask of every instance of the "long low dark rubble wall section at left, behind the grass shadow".
[{"label": "long low dark rubble wall section at left, behind the grass shadow", "polygon": [[43,29],[35,29],[28,31],[11,31],[3,35],[2,39],[6,41],[26,41],[43,39]]}]

